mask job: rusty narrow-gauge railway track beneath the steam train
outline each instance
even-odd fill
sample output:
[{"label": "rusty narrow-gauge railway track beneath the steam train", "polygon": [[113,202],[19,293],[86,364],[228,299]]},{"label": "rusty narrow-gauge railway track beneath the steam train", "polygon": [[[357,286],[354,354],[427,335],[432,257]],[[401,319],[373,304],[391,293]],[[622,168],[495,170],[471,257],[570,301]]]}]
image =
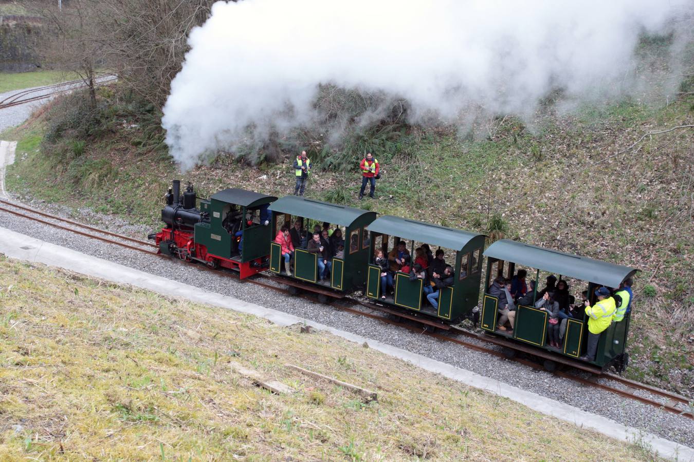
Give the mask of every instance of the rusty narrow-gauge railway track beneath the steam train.
[{"label": "rusty narrow-gauge railway track beneath the steam train", "polygon": [[[129,236],[124,236],[118,233],[112,233],[110,231],[103,231],[94,226],[75,222],[73,220],[67,220],[65,218],[58,217],[56,215],[51,215],[49,213],[36,211],[33,208],[28,208],[21,204],[15,204],[13,202],[9,202],[3,199],[0,199],[0,204],[2,204],[0,205],[0,211],[11,213],[12,215],[17,215],[19,217],[24,217],[29,220],[41,222],[49,226],[54,226],[58,229],[63,229],[66,231],[77,233],[81,236],[86,236],[88,238],[101,240],[102,242],[106,242],[109,244],[118,245],[127,249],[132,249],[144,252],[146,254],[151,254],[153,256],[158,256],[160,258],[167,258],[168,260],[171,260],[171,258],[168,256],[157,254],[156,251],[153,250],[153,247],[155,248],[156,246],[153,245],[151,242],[137,240],[135,238],[130,238]],[[12,210],[12,208],[14,208],[15,210]],[[91,231],[91,233],[83,230]],[[99,233],[101,236],[95,236],[94,233]],[[276,276],[260,274],[260,278],[239,279],[234,272],[228,270],[220,271],[219,269],[210,269],[208,267],[205,267],[204,265],[198,265],[194,262],[184,262],[183,260],[180,261],[189,265],[193,265],[197,269],[201,269],[203,271],[215,272],[217,274],[219,274],[220,272],[229,274],[232,277],[236,277],[237,280],[242,283],[253,283],[282,293],[289,292],[289,290],[285,289],[284,287],[280,287],[272,283],[266,283],[260,280],[264,278],[275,283],[279,283],[280,285],[285,285],[285,281],[276,278]],[[314,300],[314,297],[309,296],[308,294],[302,294],[301,296],[303,296],[306,299]],[[403,316],[403,313],[394,313],[388,309],[380,309],[376,305],[373,305],[371,303],[365,303],[364,301],[360,301],[358,299],[350,297],[345,297],[344,299],[336,299],[334,301],[330,301],[329,304],[334,308],[337,308],[338,310],[342,310],[352,314],[357,314],[359,316],[366,316],[371,319],[376,319],[384,323],[389,323],[393,326],[398,326],[407,330],[411,330],[413,332],[417,332],[421,335],[428,335],[429,337],[439,339],[440,341],[447,341],[453,344],[458,344],[460,346],[464,346],[465,348],[480,351],[482,353],[487,353],[489,355],[494,355],[496,357],[506,357],[505,353],[498,350],[497,348],[493,348],[493,344],[489,344],[489,341],[486,341],[479,334],[471,332],[470,330],[459,328],[457,326],[447,326],[445,324],[436,323],[435,321],[427,321],[423,324],[417,324],[415,323],[416,321],[413,321],[412,319],[402,321],[403,317],[407,318],[407,316]],[[360,309],[355,308],[354,305],[358,305]],[[396,314],[396,316],[398,316],[398,319],[390,319],[388,317],[389,314]],[[437,333],[434,331],[435,329],[432,330],[432,327],[441,328],[446,332]],[[529,359],[514,357],[511,360],[532,368],[543,368],[543,366],[541,366],[540,364],[530,361]],[[588,378],[581,377],[580,375],[577,375],[575,373],[568,373],[564,371],[555,371],[554,374],[568,380],[573,380],[587,387],[595,387],[604,391],[616,393],[617,395],[623,396],[624,398],[629,398],[638,402],[643,402],[645,404],[652,405],[660,409],[664,409],[673,414],[679,414],[681,416],[694,420],[694,414],[692,414],[691,412],[691,400],[688,400],[688,398],[680,396],[677,393],[671,393],[670,391],[662,390],[657,387],[652,387],[648,384],[634,382],[633,380],[629,380],[624,377],[620,377],[619,375],[614,375],[610,373],[602,373],[602,375],[592,375]],[[613,384],[609,384],[606,382],[613,382]],[[619,387],[616,385],[619,385]],[[651,396],[643,396],[643,392],[650,393]],[[661,398],[661,400],[657,400],[657,398]]]}]

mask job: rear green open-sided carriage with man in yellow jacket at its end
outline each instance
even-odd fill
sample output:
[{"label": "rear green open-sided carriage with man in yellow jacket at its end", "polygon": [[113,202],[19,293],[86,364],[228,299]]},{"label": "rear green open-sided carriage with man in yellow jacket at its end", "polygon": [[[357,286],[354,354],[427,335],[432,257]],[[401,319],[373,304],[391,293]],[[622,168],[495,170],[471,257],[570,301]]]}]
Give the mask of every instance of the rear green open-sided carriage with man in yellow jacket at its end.
[{"label": "rear green open-sided carriage with man in yellow jacket at its end", "polygon": [[[596,288],[601,286],[619,287],[620,283],[632,277],[637,271],[622,265],[566,254],[512,240],[498,240],[494,242],[484,251],[484,256],[487,258],[487,263],[486,281],[484,284],[485,293],[482,302],[482,329],[493,332],[495,335],[521,342],[521,344],[542,348],[559,355],[559,358],[564,357],[566,359],[578,359],[585,353],[588,339],[588,316],[582,313],[582,318],[566,320],[566,323],[561,326],[561,331],[564,332],[564,336],[561,338],[561,348],[553,348],[548,344],[548,313],[535,308],[534,303],[517,307],[515,325],[511,326],[512,330],[498,330],[499,301],[495,296],[489,294],[489,287],[493,279],[497,276],[510,279],[514,275],[516,265],[522,265],[528,269],[536,269],[535,277],[538,285],[541,279],[541,271],[558,274],[559,279],[562,277],[571,278],[587,283],[586,288],[589,294],[589,301],[593,305],[595,303],[594,292]],[[532,297],[534,301],[538,298],[538,285],[534,289],[534,296]],[[594,364],[602,370],[610,365],[614,365],[618,371],[626,367],[628,355],[625,352],[625,346],[627,344],[627,335],[629,334],[629,317],[630,314],[627,313],[622,321],[612,322],[600,334],[598,353],[595,361],[589,364]],[[509,346],[507,344],[504,345]],[[511,348],[514,347],[511,346]]]}]

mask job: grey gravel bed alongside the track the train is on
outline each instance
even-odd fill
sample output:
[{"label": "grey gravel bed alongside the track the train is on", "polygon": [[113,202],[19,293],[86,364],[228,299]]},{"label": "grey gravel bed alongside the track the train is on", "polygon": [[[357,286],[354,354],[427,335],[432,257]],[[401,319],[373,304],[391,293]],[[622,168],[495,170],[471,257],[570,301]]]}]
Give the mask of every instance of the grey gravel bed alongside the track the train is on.
[{"label": "grey gravel bed alongside the track the train is on", "polygon": [[[32,204],[44,211],[53,212],[66,209],[49,207],[43,202]],[[138,238],[154,231],[138,226],[124,226],[121,220],[113,217],[103,217],[91,211],[81,211],[82,220],[101,222],[105,229],[119,233],[130,233]],[[175,260],[163,260],[146,256],[136,251],[107,245],[90,238],[74,235],[68,231],[52,228],[30,220],[24,220],[15,215],[0,212],[0,226],[13,231],[25,233],[34,238],[46,240],[56,245],[84,252],[121,265],[133,267],[151,274],[175,279],[205,290],[234,296],[244,301],[264,305],[268,308],[294,314],[298,317],[313,319],[319,323],[354,332],[364,337],[382,341],[393,346],[446,362],[460,368],[479,373],[486,377],[515,385],[522,389],[534,391],[585,411],[600,414],[616,420],[623,425],[642,429],[644,432],[657,434],[670,441],[691,445],[694,441],[694,420],[670,414],[668,411],[656,409],[634,400],[627,400],[607,391],[584,387],[575,382],[556,377],[545,371],[528,368],[515,362],[500,359],[486,353],[467,350],[463,346],[443,343],[437,339],[418,335],[409,330],[389,326],[373,321],[366,317],[348,314],[330,308],[327,305],[311,303],[301,297],[292,297],[267,290],[259,285],[242,283],[223,274],[212,274],[201,271]],[[507,405],[514,406],[508,402]]]}]

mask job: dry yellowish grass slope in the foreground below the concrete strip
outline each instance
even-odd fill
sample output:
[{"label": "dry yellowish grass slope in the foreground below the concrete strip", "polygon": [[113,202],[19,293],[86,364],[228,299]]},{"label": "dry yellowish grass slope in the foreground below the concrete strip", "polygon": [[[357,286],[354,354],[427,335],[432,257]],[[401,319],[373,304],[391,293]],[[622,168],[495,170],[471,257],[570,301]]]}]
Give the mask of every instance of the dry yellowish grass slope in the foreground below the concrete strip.
[{"label": "dry yellowish grass slope in the foreground below the concrete strip", "polygon": [[[322,332],[3,256],[0,276],[5,460],[652,460]],[[230,361],[296,393],[254,387]]]}]

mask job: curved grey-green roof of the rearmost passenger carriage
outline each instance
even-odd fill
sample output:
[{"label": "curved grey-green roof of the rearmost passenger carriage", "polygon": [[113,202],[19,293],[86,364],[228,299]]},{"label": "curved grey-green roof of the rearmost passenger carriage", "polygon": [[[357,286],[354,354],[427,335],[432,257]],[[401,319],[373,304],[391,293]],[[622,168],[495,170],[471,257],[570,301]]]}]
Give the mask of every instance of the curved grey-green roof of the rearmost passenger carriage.
[{"label": "curved grey-green roof of the rearmost passenger carriage", "polygon": [[618,287],[622,281],[633,276],[638,271],[627,266],[565,254],[557,250],[545,249],[508,239],[494,242],[484,251],[484,256],[542,269],[550,273],[562,274],[581,281],[602,284],[607,287]]}]

